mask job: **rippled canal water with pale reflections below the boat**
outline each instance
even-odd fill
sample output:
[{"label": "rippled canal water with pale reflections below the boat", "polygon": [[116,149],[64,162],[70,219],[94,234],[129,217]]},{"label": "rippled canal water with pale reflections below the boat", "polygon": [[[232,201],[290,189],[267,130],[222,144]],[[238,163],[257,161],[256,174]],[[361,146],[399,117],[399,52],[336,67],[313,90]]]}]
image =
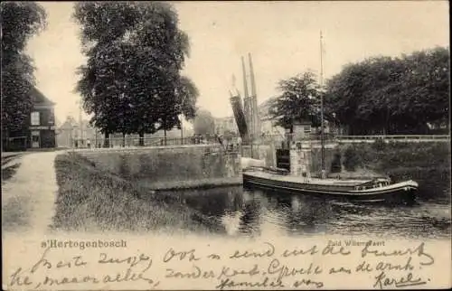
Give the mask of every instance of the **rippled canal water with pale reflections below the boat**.
[{"label": "rippled canal water with pale reflections below the boat", "polygon": [[410,206],[343,202],[241,186],[171,194],[229,236],[450,237],[449,189],[420,192],[418,202]]}]

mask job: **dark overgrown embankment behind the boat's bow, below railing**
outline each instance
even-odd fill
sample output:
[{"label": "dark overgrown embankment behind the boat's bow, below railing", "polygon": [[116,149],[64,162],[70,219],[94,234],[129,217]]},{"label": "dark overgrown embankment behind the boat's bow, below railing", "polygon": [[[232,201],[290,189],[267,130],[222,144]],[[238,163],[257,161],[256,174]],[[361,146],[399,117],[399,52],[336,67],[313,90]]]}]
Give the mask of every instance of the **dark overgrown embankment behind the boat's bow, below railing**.
[{"label": "dark overgrown embankment behind the boat's bow, below railing", "polygon": [[[341,176],[390,175],[394,181],[412,179],[425,198],[450,198],[449,143],[374,143],[341,145],[329,150],[328,170],[340,156]],[[334,166],[333,166],[334,167]]]}]

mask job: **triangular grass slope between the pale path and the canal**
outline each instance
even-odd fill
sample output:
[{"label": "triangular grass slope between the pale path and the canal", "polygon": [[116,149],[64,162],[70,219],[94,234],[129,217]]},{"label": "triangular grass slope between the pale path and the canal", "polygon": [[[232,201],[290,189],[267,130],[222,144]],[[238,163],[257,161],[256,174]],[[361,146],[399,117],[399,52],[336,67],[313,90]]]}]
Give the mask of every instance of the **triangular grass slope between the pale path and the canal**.
[{"label": "triangular grass slope between the pale path and the canal", "polygon": [[77,153],[58,155],[55,168],[56,229],[224,231],[218,221],[178,204],[170,195],[140,188]]}]

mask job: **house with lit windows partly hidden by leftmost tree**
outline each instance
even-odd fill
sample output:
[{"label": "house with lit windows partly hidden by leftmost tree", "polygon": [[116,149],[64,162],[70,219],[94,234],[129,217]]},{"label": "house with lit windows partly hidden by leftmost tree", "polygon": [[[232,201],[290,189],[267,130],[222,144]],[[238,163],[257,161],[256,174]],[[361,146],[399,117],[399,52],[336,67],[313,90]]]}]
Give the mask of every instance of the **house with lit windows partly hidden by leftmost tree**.
[{"label": "house with lit windows partly hidden by leftmost tree", "polygon": [[30,142],[27,147],[55,147],[55,103],[47,99],[41,91],[32,89],[33,108],[28,120]]}]

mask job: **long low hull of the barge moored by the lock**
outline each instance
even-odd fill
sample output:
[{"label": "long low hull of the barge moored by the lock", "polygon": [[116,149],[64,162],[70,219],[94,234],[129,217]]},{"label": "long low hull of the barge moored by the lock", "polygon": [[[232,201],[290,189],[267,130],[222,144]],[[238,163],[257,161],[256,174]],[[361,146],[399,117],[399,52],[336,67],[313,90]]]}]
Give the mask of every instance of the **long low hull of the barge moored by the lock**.
[{"label": "long low hull of the barge moored by the lock", "polygon": [[243,185],[249,187],[259,187],[273,189],[283,192],[300,194],[310,194],[322,197],[332,197],[340,200],[352,200],[360,202],[393,202],[412,203],[416,200],[418,188],[412,185],[400,184],[400,187],[391,189],[375,188],[363,192],[341,190],[341,189],[319,189],[315,185],[307,183],[290,183],[278,181],[276,179],[262,178],[253,174],[243,174]]}]

